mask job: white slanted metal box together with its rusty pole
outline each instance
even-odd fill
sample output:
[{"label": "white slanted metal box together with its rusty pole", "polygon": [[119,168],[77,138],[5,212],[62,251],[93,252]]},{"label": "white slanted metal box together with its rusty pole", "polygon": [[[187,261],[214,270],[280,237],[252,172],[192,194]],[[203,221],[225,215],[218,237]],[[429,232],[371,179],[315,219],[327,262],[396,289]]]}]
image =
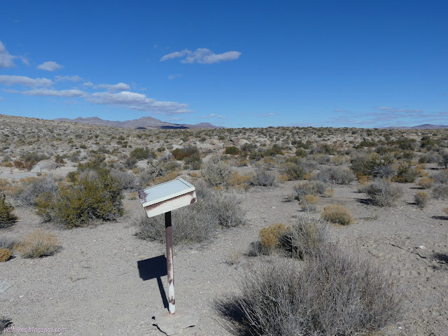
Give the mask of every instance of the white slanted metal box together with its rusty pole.
[{"label": "white slanted metal box together with its rusty pole", "polygon": [[179,178],[138,191],[141,206],[148,217],[165,214],[167,239],[168,310],[176,311],[174,300],[173,233],[171,211],[196,202],[195,187]]}]

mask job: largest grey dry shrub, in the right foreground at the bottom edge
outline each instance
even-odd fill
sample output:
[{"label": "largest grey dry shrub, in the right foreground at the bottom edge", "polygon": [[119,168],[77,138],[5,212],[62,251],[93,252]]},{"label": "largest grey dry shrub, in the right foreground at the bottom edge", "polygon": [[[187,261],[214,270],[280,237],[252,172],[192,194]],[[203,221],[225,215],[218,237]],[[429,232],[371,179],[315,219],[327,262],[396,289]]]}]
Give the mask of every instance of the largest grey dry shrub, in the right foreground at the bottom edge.
[{"label": "largest grey dry shrub, in the right foreground at the bottom edge", "polygon": [[218,302],[238,335],[371,335],[395,321],[401,297],[382,269],[325,248],[245,274],[241,294]]}]

